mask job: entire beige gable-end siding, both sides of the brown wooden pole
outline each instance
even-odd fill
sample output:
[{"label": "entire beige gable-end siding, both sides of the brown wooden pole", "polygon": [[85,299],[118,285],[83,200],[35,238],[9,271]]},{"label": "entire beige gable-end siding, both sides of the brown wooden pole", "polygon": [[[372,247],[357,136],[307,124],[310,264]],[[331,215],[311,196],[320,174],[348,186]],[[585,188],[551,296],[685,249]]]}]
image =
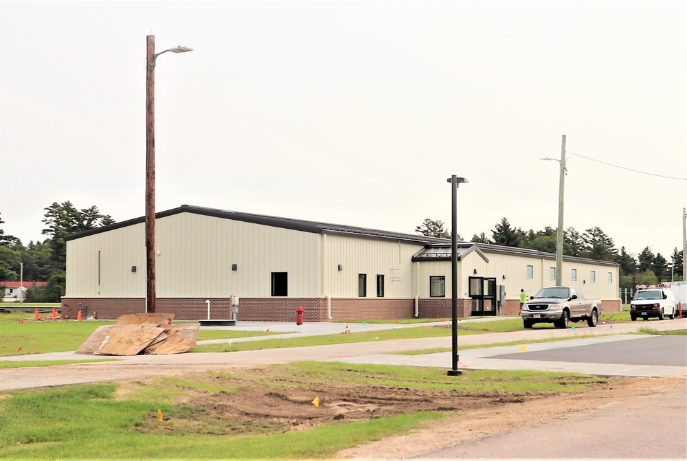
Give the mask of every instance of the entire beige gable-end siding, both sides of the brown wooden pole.
[{"label": "entire beige gable-end siding, both sides of the brown wooden pole", "polygon": [[[321,295],[318,234],[187,213],[155,227],[157,297],[270,297],[272,272],[288,273],[289,297]],[[144,242],[143,223],[69,240],[67,296],[145,297]]]}]

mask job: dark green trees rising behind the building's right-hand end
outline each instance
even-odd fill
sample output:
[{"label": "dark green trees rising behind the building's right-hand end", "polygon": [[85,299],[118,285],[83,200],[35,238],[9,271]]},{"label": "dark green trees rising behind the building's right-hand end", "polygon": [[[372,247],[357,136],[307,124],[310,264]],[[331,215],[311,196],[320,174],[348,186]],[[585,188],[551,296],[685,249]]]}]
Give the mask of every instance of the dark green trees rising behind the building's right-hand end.
[{"label": "dark green trees rising behind the building's right-hand end", "polygon": [[[415,228],[415,232],[425,236],[451,238],[451,234],[444,228],[443,221],[425,219],[422,225]],[[645,247],[635,258],[625,247],[616,248],[613,239],[600,227],[592,227],[585,232],[578,232],[574,227],[568,227],[563,234],[563,254],[578,256],[600,261],[617,262],[619,269],[619,284],[621,288],[634,288],[638,284],[656,284],[670,280],[682,280],[683,251],[673,249],[673,254],[666,256],[653,254],[651,248]],[[530,229],[523,231],[513,227],[507,218],[502,218],[491,231],[491,236],[484,232],[474,234],[471,241],[502,245],[504,247],[528,248],[547,253],[556,253],[556,229],[544,227],[542,230]],[[458,240],[462,240],[457,236]]]}]

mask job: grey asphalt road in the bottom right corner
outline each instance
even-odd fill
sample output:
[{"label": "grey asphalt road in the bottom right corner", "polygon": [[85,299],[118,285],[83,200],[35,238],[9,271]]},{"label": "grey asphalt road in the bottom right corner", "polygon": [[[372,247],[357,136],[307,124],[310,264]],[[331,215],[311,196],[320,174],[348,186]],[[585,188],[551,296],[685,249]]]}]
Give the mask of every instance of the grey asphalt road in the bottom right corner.
[{"label": "grey asphalt road in the bottom right corner", "polygon": [[422,459],[687,459],[687,387],[464,442]]}]

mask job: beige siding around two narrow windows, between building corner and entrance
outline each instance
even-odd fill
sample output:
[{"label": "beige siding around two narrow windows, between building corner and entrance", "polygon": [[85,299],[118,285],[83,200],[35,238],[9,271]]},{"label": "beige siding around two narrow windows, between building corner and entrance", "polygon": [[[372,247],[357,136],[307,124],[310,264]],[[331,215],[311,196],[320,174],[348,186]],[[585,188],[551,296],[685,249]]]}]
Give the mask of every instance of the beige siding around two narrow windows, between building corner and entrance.
[{"label": "beige siding around two narrow windows, between building corner and entrance", "polygon": [[[415,297],[411,258],[423,245],[322,236],[323,289],[331,297],[358,297],[358,274],[367,274],[367,297],[376,297],[376,276],[384,276],[384,297]],[[338,270],[341,265],[341,271]]]}]

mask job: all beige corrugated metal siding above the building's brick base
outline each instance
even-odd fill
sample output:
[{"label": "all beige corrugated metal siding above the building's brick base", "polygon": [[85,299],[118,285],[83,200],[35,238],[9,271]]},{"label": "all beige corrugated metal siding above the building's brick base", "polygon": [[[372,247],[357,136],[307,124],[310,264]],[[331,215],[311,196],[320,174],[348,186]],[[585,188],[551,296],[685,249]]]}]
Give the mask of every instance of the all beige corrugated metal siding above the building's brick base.
[{"label": "all beige corrugated metal siding above the building's brick base", "polygon": [[[270,297],[272,272],[288,273],[289,297],[358,297],[359,273],[368,276],[367,297],[376,297],[378,274],[384,276],[384,297],[408,299],[419,293],[428,298],[429,276],[445,276],[447,297],[451,293],[450,261],[411,261],[423,248],[420,244],[315,234],[190,213],[158,218],[156,229],[158,297]],[[69,240],[67,296],[145,297],[144,233],[145,224],[139,223]],[[477,252],[459,262],[459,297],[466,296],[474,269],[477,276],[495,277],[497,284],[506,285],[510,300],[517,299],[522,288],[534,294],[553,284],[549,268],[555,267],[554,260],[485,254],[488,264]],[[232,271],[232,264],[237,271]],[[526,277],[527,265],[532,265],[531,279]],[[571,280],[573,268],[576,282]],[[589,278],[592,270],[594,283]],[[618,267],[564,261],[563,284],[581,286],[589,297],[613,300],[618,296]]]}]

